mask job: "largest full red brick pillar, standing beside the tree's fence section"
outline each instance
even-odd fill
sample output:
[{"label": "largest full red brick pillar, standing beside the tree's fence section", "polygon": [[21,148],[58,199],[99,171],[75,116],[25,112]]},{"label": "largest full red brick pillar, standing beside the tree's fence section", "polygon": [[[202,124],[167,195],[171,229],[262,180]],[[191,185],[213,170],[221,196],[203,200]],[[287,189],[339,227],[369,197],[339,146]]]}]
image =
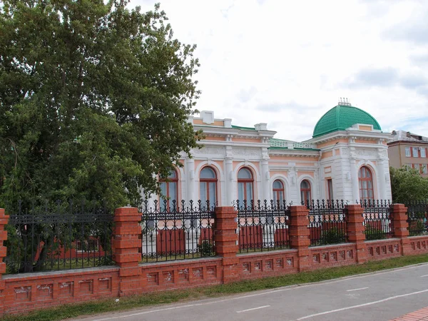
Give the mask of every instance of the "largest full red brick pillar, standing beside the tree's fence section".
[{"label": "largest full red brick pillar, standing beside the tree's fence section", "polygon": [[138,208],[116,208],[114,212],[113,260],[120,267],[120,296],[141,293],[146,285],[138,266],[141,260],[139,221],[141,213],[138,213]]}]

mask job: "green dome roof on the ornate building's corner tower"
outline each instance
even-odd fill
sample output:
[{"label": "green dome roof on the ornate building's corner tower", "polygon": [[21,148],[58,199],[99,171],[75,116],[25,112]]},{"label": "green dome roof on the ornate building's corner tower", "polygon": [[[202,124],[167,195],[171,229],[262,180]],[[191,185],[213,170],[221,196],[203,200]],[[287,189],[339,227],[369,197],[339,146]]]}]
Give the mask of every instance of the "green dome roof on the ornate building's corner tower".
[{"label": "green dome roof on the ornate building's corner tower", "polygon": [[352,106],[337,105],[327,111],[315,125],[312,137],[332,133],[333,131],[345,131],[356,123],[373,125],[373,129],[381,130],[379,123],[370,113]]}]

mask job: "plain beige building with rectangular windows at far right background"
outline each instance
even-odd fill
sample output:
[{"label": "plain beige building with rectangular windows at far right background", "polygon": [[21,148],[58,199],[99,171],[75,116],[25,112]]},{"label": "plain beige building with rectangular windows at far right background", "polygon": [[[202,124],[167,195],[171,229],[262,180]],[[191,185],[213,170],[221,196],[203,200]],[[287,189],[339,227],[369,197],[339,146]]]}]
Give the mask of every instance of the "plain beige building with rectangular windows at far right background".
[{"label": "plain beige building with rectangular windows at far right background", "polygon": [[428,178],[428,137],[409,131],[392,131],[388,143],[389,165],[419,170],[422,177]]}]

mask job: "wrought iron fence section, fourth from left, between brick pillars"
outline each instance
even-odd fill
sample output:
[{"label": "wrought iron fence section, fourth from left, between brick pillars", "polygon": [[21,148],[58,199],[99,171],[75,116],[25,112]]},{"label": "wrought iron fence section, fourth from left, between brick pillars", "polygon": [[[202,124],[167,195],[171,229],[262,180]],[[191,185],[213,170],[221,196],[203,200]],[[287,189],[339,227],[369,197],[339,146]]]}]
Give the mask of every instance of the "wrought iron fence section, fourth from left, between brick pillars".
[{"label": "wrought iron fence section, fourth from left, between brick pillars", "polygon": [[307,201],[310,246],[347,242],[345,205],[344,200]]}]

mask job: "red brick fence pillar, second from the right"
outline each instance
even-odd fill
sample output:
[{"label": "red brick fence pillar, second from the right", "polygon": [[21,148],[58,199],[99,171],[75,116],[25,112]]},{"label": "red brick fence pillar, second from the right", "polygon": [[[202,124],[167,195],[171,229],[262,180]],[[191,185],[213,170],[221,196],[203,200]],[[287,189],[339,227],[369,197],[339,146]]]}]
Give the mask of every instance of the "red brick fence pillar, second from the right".
[{"label": "red brick fence pillar, second from the right", "polygon": [[347,205],[347,238],[350,243],[355,243],[357,253],[355,259],[357,263],[367,262],[367,248],[365,245],[365,226],[362,213],[364,209],[361,205]]}]

